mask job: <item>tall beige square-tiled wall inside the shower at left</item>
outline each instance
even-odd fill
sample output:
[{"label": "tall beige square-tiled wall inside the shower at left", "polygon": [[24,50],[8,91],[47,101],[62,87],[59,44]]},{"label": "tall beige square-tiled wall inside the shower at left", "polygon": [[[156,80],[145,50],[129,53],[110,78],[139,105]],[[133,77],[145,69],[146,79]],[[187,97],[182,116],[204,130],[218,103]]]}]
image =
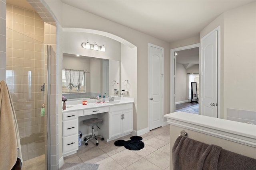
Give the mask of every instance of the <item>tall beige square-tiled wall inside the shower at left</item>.
[{"label": "tall beige square-tiled wall inside the shower at left", "polygon": [[44,21],[6,4],[6,77],[16,112],[23,160],[44,154]]}]

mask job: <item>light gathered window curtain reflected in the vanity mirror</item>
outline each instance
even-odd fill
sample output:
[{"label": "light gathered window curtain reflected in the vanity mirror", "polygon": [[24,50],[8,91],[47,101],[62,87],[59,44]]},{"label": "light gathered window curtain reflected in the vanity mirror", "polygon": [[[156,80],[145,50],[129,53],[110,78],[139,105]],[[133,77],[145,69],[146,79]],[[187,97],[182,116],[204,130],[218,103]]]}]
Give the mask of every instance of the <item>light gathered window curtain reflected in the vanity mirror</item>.
[{"label": "light gathered window curtain reflected in the vanity mirror", "polygon": [[84,78],[84,70],[65,69],[65,73],[67,88],[72,89],[73,86],[79,91]]}]

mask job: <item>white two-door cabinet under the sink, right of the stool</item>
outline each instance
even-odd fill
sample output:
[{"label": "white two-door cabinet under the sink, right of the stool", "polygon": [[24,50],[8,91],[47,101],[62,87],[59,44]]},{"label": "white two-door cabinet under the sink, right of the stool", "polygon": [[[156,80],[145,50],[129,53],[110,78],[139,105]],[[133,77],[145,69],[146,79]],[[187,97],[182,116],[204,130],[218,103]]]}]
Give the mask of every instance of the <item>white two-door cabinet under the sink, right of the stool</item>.
[{"label": "white two-door cabinet under the sink, right of the stool", "polygon": [[133,131],[133,104],[110,106],[109,138],[126,135]]}]

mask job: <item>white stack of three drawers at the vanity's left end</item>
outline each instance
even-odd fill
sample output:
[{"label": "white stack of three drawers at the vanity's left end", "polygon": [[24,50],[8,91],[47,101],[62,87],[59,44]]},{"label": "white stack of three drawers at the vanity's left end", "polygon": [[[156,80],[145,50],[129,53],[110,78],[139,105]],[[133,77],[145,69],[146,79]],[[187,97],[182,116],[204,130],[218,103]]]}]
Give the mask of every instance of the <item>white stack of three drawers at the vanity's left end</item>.
[{"label": "white stack of three drawers at the vanity's left end", "polygon": [[63,155],[67,156],[78,150],[78,111],[63,113],[62,120]]}]

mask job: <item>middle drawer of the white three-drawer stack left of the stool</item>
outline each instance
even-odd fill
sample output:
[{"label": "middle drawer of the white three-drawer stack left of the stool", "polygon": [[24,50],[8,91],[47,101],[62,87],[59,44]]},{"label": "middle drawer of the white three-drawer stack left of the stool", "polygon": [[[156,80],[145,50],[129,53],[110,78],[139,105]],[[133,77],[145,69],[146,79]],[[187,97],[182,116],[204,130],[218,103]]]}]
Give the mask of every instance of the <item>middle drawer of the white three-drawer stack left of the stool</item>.
[{"label": "middle drawer of the white three-drawer stack left of the stool", "polygon": [[63,121],[63,137],[76,134],[77,132],[78,132],[77,119]]}]

